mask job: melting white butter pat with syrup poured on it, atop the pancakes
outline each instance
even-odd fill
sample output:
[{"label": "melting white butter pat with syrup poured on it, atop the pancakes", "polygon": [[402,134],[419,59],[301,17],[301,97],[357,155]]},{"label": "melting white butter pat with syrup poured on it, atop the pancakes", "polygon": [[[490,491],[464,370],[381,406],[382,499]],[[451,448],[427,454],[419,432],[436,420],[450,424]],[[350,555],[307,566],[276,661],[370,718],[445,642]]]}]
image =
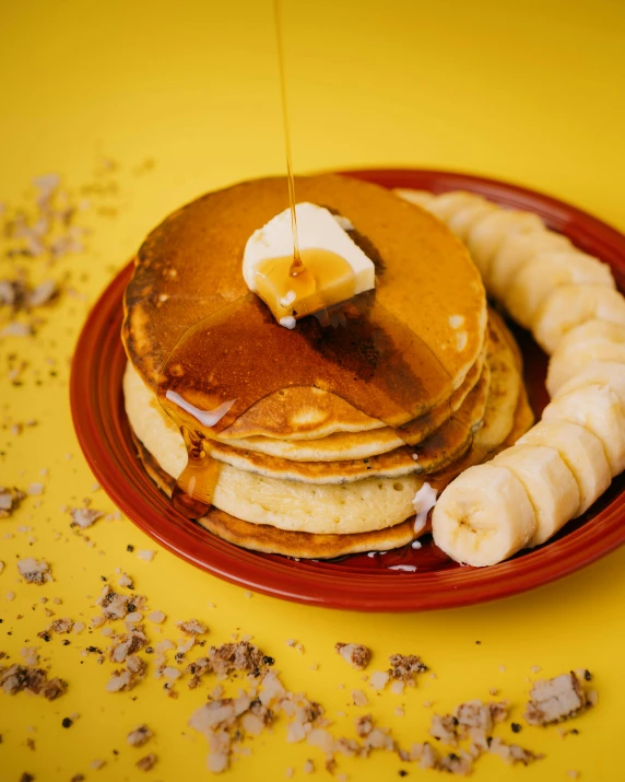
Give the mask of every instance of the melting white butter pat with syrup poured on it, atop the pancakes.
[{"label": "melting white butter pat with syrup poured on it, atop the pancakes", "polygon": [[247,287],[286,328],[376,284],[373,261],[343,227],[351,223],[314,203],[297,203],[295,213],[303,268],[294,272],[290,209],[253,232],[243,258]]}]

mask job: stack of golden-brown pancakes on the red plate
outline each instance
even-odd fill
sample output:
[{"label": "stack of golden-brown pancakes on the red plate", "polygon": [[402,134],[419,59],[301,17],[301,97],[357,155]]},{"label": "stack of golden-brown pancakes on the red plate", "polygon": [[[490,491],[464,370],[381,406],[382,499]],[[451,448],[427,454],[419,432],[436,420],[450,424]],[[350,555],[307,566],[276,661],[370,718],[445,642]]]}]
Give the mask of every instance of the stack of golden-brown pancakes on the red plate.
[{"label": "stack of golden-brown pancakes on the red plate", "polygon": [[[235,324],[238,343],[219,337],[232,329],[214,331],[197,362],[180,363],[188,330],[249,294],[245,244],[288,207],[285,179],[244,183],[175,212],[139,250],[125,299],[126,409],[146,470],[170,494],[187,447],[163,409],[164,378],[175,376],[176,393],[194,409],[212,410],[223,401],[213,382],[220,367],[240,360],[241,397],[249,387],[267,393],[225,427],[194,422],[220,467],[199,523],[239,546],[293,557],[388,550],[427,528],[414,524],[424,482],[441,490],[531,425],[519,352],[487,308],[467,249],[434,217],[347,177],[302,177],[295,186],[298,201],[350,220],[352,238],[376,265],[372,296],[399,330],[375,336],[365,351],[345,339],[349,319],[321,325],[309,316],[290,331],[261,313],[262,328]],[[400,331],[411,335],[401,346],[393,343]],[[329,354],[346,367],[339,380]],[[409,370],[398,370],[398,355]],[[372,404],[354,404],[367,389]]]}]

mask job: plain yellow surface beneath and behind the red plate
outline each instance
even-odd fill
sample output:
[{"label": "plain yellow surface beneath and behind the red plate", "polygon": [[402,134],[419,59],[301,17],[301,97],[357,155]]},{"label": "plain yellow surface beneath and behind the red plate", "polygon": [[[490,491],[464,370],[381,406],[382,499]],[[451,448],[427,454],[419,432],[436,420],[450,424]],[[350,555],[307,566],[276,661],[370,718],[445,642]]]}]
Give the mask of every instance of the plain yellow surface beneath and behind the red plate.
[{"label": "plain yellow surface beneath and behind the red plate", "polygon": [[[60,637],[49,643],[36,639],[49,621],[42,596],[62,599],[62,606],[48,603],[57,616],[89,619],[97,612],[92,606],[101,575],[115,577],[116,568],[168,615],[164,637],[176,639],[174,622],[190,617],[209,623],[211,643],[239,629],[253,634],[291,689],[306,690],[331,717],[337,710],[347,714],[337,717],[338,732],[347,735],[352,715],[363,710],[345,705],[345,692],[362,682],[333,653],[339,640],[369,644],[374,669],[399,651],[421,654],[436,673],[403,697],[385,692],[370,699],[380,724],[392,727],[402,744],[425,737],[431,710],[424,701],[441,712],[497,687],[519,716],[531,666],[542,666],[541,675],[587,666],[595,673],[600,702],[570,725],[579,735],[562,739],[557,728],[526,727],[518,742],[547,757],[529,769],[486,757],[475,778],[564,781],[568,770],[578,770],[582,780],[621,780],[625,550],[505,602],[367,616],[248,597],[163,550],[144,562],[137,550],[154,546],[126,520],[98,522],[87,532],[95,544],[89,547],[60,510],[85,495],[93,495],[95,507],[113,510],[102,492],[92,494],[93,477],[68,406],[68,360],[89,304],[168,211],[204,190],[283,170],[270,12],[270,3],[260,0],[26,0],[1,7],[0,198],[19,202],[31,177],[50,170],[80,187],[102,154],[118,160],[120,170],[110,175],[119,194],[108,199],[119,213],[86,213],[93,225],[89,252],[48,271],[71,272],[71,284],[86,301],[66,293],[43,311],[46,323],[35,339],[0,345],[2,423],[38,421],[20,435],[0,430],[0,482],[25,487],[49,468],[45,494],[0,520],[0,559],[7,565],[0,574],[0,650],[19,660],[23,646],[38,643],[52,674],[70,685],[54,702],[0,695],[0,780],[13,782],[23,772],[38,782],[79,772],[102,782],[135,780],[143,772],[134,762],[149,750],[160,759],[146,779],[210,775],[205,740],[187,727],[191,711],[205,700],[205,685],[190,691],[182,680],[174,700],[150,672],[132,692],[109,695],[104,686],[113,665],[80,654],[89,643],[106,644],[99,631],[70,635],[68,646]],[[471,171],[552,192],[625,229],[623,3],[286,0],[284,27],[297,171],[368,164]],[[146,157],[155,167],[137,174],[134,166]],[[11,261],[0,264],[3,277]],[[40,261],[24,264],[44,276]],[[12,351],[30,364],[22,386],[7,378],[5,354]],[[58,361],[56,377],[45,363],[49,357]],[[134,553],[127,552],[128,544]],[[54,583],[20,583],[16,556],[47,558]],[[16,596],[9,602],[12,591]],[[304,644],[304,654],[285,645],[291,638]],[[319,667],[311,670],[315,663]],[[394,714],[400,703],[403,717]],[[72,713],[80,717],[62,728],[62,717]],[[126,734],[144,721],[156,737],[144,750],[132,749]],[[511,737],[509,727],[499,733]],[[90,769],[96,758],[106,760],[99,771]],[[307,758],[322,768],[319,750],[285,744],[280,723],[253,742],[253,754],[237,761],[228,778],[283,779],[294,767],[294,779],[304,779]],[[390,780],[399,768],[396,756],[378,752],[366,761],[340,760],[339,772],[352,780]],[[415,766],[406,769],[411,777],[427,775]]]}]

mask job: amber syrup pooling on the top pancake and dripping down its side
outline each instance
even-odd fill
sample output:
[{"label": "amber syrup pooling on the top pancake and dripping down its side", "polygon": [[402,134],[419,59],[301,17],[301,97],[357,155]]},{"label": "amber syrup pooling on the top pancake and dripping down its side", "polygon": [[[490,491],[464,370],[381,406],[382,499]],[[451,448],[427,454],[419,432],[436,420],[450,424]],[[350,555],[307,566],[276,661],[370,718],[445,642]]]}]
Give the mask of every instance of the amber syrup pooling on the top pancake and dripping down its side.
[{"label": "amber syrup pooling on the top pancake and dripping down its side", "polygon": [[323,388],[397,427],[433,401],[445,404],[452,381],[418,335],[376,302],[375,291],[346,302],[339,325],[310,316],[294,330],[280,326],[258,296],[244,296],[190,328],[161,373],[158,399],[189,455],[174,492],[178,510],[198,518],[211,504],[219,467],[205,439],[288,386]]}]

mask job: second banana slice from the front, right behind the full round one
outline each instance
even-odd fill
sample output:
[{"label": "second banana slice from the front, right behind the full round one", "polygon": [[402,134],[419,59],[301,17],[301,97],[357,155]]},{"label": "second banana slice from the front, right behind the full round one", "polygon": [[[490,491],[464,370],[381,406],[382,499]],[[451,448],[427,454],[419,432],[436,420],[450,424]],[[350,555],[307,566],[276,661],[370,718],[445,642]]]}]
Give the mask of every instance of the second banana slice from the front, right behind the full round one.
[{"label": "second banana slice from the front, right behind the full round one", "polygon": [[492,464],[507,467],[526,487],[536,514],[536,532],[529,547],[544,544],[577,514],[579,488],[555,448],[514,445],[496,456]]}]

